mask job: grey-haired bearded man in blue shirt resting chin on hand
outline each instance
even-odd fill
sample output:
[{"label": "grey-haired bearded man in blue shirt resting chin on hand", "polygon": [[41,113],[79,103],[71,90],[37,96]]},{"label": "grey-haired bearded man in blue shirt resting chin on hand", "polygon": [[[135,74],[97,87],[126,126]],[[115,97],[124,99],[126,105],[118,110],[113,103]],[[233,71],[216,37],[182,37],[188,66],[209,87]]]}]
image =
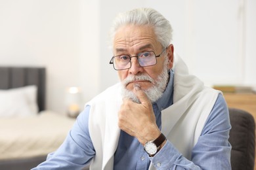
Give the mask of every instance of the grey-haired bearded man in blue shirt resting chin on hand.
[{"label": "grey-haired bearded man in blue shirt resting chin on hand", "polygon": [[110,63],[121,83],[89,101],[35,169],[231,169],[223,95],[188,74],[171,32],[153,9],[117,16]]}]

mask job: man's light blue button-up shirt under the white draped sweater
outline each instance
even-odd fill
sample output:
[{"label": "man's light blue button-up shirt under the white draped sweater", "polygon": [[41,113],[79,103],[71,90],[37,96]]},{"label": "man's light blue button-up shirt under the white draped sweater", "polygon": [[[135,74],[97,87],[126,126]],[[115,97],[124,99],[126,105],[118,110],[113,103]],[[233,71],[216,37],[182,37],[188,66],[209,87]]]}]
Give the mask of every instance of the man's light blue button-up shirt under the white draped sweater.
[{"label": "man's light blue button-up shirt under the white draped sweater", "polygon": [[[173,71],[170,74],[165,92],[153,103],[156,123],[160,129],[161,110],[173,104]],[[88,129],[89,111],[90,107],[85,107],[60,148],[34,169],[81,169],[89,165],[95,156]],[[231,146],[228,143],[230,128],[228,107],[223,95],[219,94],[200,139],[192,150],[191,160],[184,158],[169,141],[154,157],[149,157],[135,137],[121,131],[114,155],[114,169],[148,169],[150,162],[157,169],[231,169]]]}]

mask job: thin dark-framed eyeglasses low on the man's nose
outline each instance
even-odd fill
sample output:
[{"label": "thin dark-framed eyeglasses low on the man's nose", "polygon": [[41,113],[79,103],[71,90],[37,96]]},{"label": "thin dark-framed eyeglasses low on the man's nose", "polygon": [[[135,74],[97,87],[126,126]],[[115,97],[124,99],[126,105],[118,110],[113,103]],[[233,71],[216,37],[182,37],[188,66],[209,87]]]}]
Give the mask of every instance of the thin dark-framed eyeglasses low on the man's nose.
[{"label": "thin dark-framed eyeglasses low on the man's nose", "polygon": [[152,51],[140,52],[137,56],[129,56],[128,54],[113,56],[110,64],[113,64],[117,71],[131,68],[131,58],[137,58],[141,67],[156,65],[156,58],[159,58],[165,50],[166,48],[158,56]]}]

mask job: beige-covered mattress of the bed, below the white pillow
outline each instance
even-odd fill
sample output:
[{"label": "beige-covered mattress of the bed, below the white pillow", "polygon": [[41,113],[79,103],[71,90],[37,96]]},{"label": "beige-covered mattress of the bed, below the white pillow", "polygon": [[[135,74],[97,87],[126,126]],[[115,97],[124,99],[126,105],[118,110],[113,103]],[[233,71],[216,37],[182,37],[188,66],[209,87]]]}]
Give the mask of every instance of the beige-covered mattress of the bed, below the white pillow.
[{"label": "beige-covered mattress of the bed, below the white pillow", "polygon": [[36,116],[0,118],[0,160],[32,158],[56,150],[75,119],[51,111]]}]

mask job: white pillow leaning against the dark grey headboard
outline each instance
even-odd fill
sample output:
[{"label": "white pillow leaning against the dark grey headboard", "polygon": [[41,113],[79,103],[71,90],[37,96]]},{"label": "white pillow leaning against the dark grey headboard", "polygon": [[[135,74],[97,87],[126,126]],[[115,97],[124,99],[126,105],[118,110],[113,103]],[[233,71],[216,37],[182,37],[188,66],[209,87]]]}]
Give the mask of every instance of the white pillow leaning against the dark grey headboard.
[{"label": "white pillow leaning against the dark grey headboard", "polygon": [[33,116],[38,110],[37,86],[0,90],[0,117]]}]

